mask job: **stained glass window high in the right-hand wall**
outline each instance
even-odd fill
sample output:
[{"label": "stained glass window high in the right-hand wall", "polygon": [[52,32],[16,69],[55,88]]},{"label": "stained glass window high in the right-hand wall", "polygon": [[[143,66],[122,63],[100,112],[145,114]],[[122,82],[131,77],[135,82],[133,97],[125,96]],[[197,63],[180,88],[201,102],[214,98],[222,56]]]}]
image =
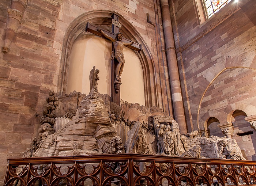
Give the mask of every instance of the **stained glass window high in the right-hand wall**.
[{"label": "stained glass window high in the right-hand wall", "polygon": [[204,0],[208,18],[221,10],[231,0]]}]

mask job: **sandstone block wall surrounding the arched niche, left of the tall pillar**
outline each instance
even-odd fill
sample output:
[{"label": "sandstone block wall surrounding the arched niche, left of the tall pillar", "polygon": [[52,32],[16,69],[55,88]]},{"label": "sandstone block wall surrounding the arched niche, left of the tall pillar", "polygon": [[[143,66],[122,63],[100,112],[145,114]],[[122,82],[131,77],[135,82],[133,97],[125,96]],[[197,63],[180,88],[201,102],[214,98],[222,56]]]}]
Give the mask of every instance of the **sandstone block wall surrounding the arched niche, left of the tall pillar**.
[{"label": "sandstone block wall surrounding the arched niche, left of the tall pillar", "polygon": [[[11,0],[0,2],[1,47],[4,45],[7,9],[10,7]],[[56,92],[58,89],[59,77],[63,73],[60,72],[61,56],[63,49],[69,47],[64,43],[69,26],[89,11],[97,11],[100,16],[101,10],[118,12],[138,31],[147,45],[143,50],[151,55],[148,56],[151,58],[150,67],[144,67],[151,69],[144,72],[148,73],[144,76],[149,80],[146,88],[155,90],[155,93],[147,91],[147,96],[151,98],[146,104],[162,108],[172,115],[169,76],[165,55],[160,52],[164,43],[161,43],[163,33],[157,3],[153,0],[27,1],[9,53],[0,52],[0,185],[6,171],[6,159],[20,157],[21,152],[30,146],[31,139],[37,136],[48,91]],[[95,20],[97,14],[94,14]],[[147,23],[147,14],[152,24]],[[104,24],[104,20],[98,24]]]}]

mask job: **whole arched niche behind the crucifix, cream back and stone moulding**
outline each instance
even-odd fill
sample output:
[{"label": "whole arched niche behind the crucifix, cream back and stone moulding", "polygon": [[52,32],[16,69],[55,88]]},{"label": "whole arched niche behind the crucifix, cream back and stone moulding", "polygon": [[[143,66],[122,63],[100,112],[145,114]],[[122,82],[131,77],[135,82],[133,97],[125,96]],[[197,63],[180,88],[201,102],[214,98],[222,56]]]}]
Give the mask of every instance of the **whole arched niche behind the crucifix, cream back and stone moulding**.
[{"label": "whole arched niche behind the crucifix, cream back and stone moulding", "polygon": [[124,48],[125,65],[122,74],[121,99],[145,105],[158,106],[154,62],[146,43],[138,31],[117,12],[90,11],[76,18],[67,30],[61,71],[58,82],[58,94],[74,90],[89,93],[89,73],[95,66],[99,69],[98,91],[110,95],[111,76],[111,42],[91,33],[85,33],[87,22],[111,31],[112,18],[115,13],[122,24],[120,32],[129,40],[142,44],[142,51],[136,52]]}]

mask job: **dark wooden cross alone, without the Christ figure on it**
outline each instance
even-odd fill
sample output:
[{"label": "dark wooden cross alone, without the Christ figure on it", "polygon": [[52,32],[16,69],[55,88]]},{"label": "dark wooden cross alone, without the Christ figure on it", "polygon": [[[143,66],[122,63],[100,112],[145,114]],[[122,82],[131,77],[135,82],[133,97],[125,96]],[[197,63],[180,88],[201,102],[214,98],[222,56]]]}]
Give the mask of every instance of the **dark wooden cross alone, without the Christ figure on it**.
[{"label": "dark wooden cross alone, without the Christ figure on it", "polygon": [[[121,24],[118,22],[118,16],[116,14],[113,14],[112,16],[112,33],[106,30],[103,30],[106,34],[108,34],[110,37],[115,38],[116,34],[119,32],[119,28],[121,27]],[[85,31],[93,33],[95,35],[101,36],[103,38],[105,38],[103,36],[102,33],[100,33],[98,31],[98,27],[94,26],[93,24],[90,24],[89,22],[86,24],[86,29]],[[122,42],[125,43],[130,43],[131,41],[129,41],[128,39],[122,38]],[[141,50],[141,45],[138,43],[133,43],[132,45],[128,45],[127,46],[130,49],[136,50],[136,51],[140,51]],[[114,50],[114,45],[112,43],[112,51]],[[118,61],[116,60],[116,58],[112,59],[111,61],[111,101],[116,103],[117,105],[120,106],[120,83],[115,81],[115,69],[117,67]]]}]

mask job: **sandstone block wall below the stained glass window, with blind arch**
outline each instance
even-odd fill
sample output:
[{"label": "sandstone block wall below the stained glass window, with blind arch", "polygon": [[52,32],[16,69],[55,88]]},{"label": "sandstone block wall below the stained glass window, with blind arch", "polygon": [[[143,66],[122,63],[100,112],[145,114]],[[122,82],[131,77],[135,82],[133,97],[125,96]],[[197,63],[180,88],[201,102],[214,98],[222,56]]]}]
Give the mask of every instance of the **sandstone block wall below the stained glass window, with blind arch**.
[{"label": "sandstone block wall below the stained glass window, with blind arch", "polygon": [[231,1],[198,24],[193,1],[170,1],[187,124],[202,132],[216,118],[212,131],[221,137],[217,124],[229,122],[248,159],[255,156],[255,131],[244,120],[240,133],[252,134],[237,136],[232,122],[234,111],[249,117],[256,110],[255,6],[253,0]]}]

